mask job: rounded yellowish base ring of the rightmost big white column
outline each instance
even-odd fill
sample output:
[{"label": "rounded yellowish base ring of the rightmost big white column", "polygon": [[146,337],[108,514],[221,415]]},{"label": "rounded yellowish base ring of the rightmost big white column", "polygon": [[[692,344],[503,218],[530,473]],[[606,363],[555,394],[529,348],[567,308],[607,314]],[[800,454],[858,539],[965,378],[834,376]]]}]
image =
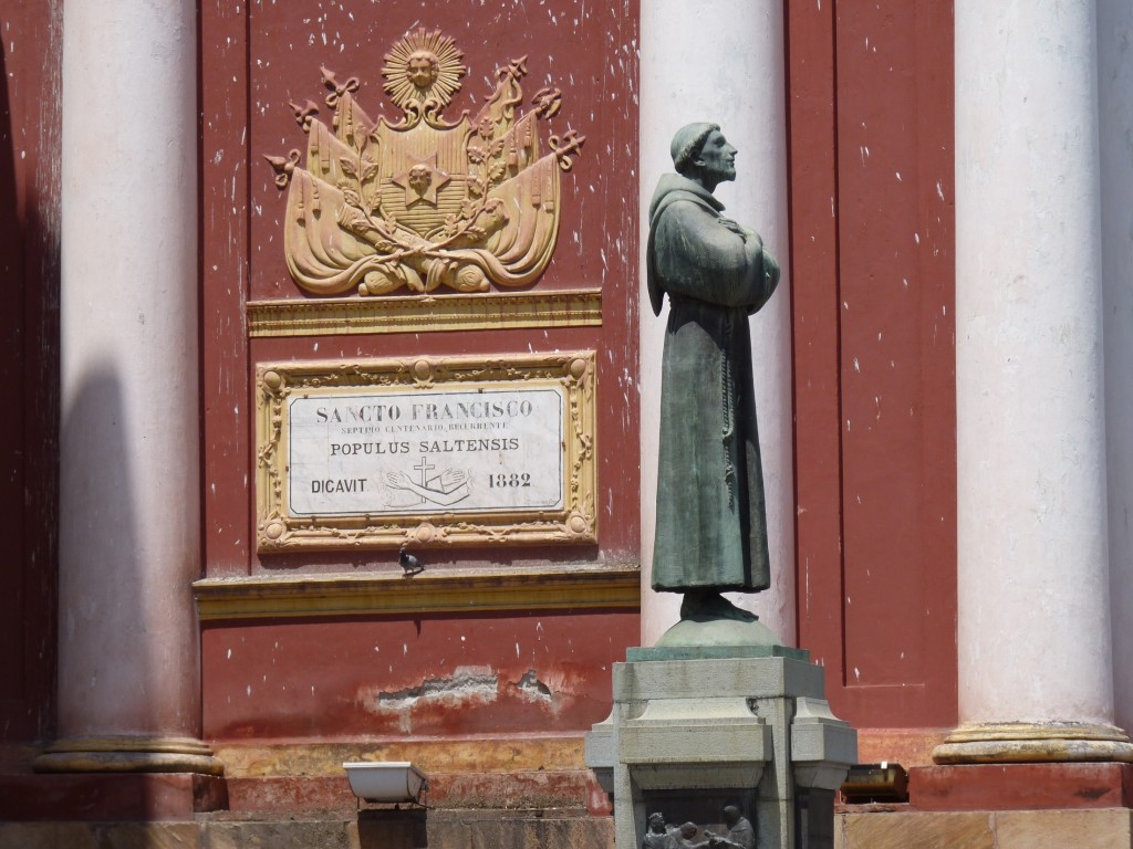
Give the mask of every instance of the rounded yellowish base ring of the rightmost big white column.
[{"label": "rounded yellowish base ring of the rightmost big white column", "polygon": [[1133,762],[1119,728],[1088,722],[964,724],[932,751],[938,764]]}]

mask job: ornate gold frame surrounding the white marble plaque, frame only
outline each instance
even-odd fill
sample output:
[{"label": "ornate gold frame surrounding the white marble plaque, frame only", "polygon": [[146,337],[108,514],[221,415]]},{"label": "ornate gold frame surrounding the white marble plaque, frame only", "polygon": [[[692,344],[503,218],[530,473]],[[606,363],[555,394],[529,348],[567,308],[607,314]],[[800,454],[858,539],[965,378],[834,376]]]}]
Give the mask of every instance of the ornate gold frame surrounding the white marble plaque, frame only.
[{"label": "ornate gold frame surrounding the white marble plaque, frame only", "polygon": [[[492,357],[261,363],[256,368],[256,548],[259,552],[594,543],[597,462],[594,351]],[[289,401],[372,394],[553,388],[562,410],[562,499],[555,509],[421,511],[297,516],[289,505]]]}]

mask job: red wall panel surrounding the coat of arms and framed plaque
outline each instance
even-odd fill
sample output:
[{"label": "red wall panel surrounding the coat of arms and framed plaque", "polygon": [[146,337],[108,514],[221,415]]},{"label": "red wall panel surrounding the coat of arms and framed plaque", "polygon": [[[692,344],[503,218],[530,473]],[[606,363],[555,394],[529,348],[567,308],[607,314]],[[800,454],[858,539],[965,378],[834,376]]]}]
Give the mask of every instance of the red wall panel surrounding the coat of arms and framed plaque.
[{"label": "red wall panel surrounding the coat of arms and framed plaque", "polygon": [[[529,3],[493,0],[365,0],[321,10],[313,3],[208,3],[202,9],[204,186],[205,555],[212,576],[296,567],[337,568],[356,557],[258,558],[250,544],[256,362],[424,354],[594,349],[597,393],[599,542],[589,549],[526,551],[528,560],[630,560],[638,557],[637,404],[637,27],[636,0]],[[249,300],[306,298],[283,258],[286,194],[263,154],[304,148],[307,137],[288,103],[322,103],[320,66],[357,76],[358,103],[375,118],[397,115],[382,92],[383,54],[409,29],[440,28],[455,38],[470,72],[445,112],[472,110],[492,93],[495,70],[527,55],[528,98],[562,89],[553,130],[587,142],[562,174],[555,255],[538,290],[603,290],[600,327],[548,331],[383,334],[249,340]],[[521,110],[528,106],[525,104]],[[329,110],[322,106],[321,117]],[[489,556],[488,556],[489,557]],[[455,551],[452,561],[484,560]],[[389,558],[385,558],[389,559]]]}]

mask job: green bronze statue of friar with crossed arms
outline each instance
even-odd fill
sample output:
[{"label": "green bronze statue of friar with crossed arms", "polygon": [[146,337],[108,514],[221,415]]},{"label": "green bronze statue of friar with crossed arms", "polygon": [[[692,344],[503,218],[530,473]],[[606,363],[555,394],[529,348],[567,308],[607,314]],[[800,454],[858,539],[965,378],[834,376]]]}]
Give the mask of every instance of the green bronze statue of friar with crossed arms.
[{"label": "green bronze statue of friar with crossed arms", "polygon": [[751,621],[721,593],[770,585],[748,317],[780,267],[713,196],[735,179],[736,149],[719,126],[682,127],[671,152],[676,173],[649,205],[647,249],[654,314],[670,300],[653,589],[684,593],[682,621]]}]

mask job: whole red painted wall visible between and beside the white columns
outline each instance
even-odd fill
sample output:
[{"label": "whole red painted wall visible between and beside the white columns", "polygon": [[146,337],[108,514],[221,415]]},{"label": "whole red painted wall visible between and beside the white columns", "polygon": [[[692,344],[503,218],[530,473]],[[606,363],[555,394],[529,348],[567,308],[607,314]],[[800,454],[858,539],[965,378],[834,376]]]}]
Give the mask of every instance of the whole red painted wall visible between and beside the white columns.
[{"label": "whole red painted wall visible between and beside the white columns", "polygon": [[[308,6],[213,0],[201,10],[203,538],[210,575],[380,568],[373,558],[256,558],[249,375],[261,359],[406,350],[602,352],[602,541],[513,555],[536,563],[636,558],[636,0],[451,0],[424,9],[408,0],[355,0],[304,11]],[[784,8],[799,637],[829,670],[835,709],[855,724],[949,726],[956,714],[951,9],[929,0]],[[0,741],[10,743],[49,737],[53,710],[60,5],[17,3],[6,11],[0,226],[16,238],[0,256],[5,280],[15,281],[0,319],[9,343],[0,363],[9,400],[0,423],[7,551],[0,575],[8,589],[0,601]],[[538,285],[603,285],[603,327],[249,342],[247,300],[303,297],[288,289],[279,245],[284,200],[261,161],[262,153],[305,139],[288,100],[321,97],[318,66],[326,63],[363,79],[359,98],[372,114],[392,112],[380,96],[382,54],[417,25],[453,35],[472,69],[451,111],[470,108],[489,91],[497,65],[525,53],[528,94],[552,82],[563,89],[556,129],[573,127],[588,142],[564,175],[559,250]],[[492,558],[460,551],[452,559],[483,565]],[[211,623],[203,633],[206,732],[390,730],[390,718],[375,718],[365,693],[445,679],[462,666],[493,670],[496,701],[462,712],[467,723],[460,727],[444,726],[446,719],[421,706],[418,714],[410,711],[410,728],[581,729],[600,712],[597,701],[608,698],[606,667],[636,641],[636,623],[632,611],[521,610],[478,618]],[[275,648],[278,640],[286,651]],[[403,654],[393,670],[389,661],[385,671],[374,664],[399,645]],[[551,689],[551,702],[511,687],[528,671]],[[312,703],[300,692],[310,686],[326,701]]]}]

